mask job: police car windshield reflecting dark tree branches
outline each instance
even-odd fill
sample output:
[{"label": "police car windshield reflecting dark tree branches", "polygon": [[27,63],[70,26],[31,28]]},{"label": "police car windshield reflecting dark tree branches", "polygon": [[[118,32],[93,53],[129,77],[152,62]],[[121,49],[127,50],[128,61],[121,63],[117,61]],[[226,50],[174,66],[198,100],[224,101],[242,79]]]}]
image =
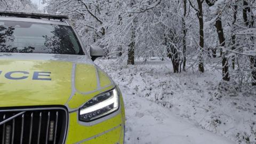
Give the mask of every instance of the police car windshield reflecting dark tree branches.
[{"label": "police car windshield reflecting dark tree branches", "polygon": [[84,54],[70,26],[22,21],[0,21],[0,52]]}]

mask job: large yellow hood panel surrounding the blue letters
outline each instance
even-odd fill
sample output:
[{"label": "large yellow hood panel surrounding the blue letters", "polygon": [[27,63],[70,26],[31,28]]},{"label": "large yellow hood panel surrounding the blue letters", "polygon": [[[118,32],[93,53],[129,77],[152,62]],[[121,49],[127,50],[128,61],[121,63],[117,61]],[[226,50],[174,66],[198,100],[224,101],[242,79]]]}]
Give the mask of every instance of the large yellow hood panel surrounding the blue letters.
[{"label": "large yellow hood panel surrounding the blue letters", "polygon": [[[71,68],[70,62],[0,60],[0,106],[64,105],[71,94]],[[29,74],[13,74],[12,77],[27,77],[13,80],[5,77],[9,71]],[[33,80],[34,71],[51,72],[51,81]]]}]

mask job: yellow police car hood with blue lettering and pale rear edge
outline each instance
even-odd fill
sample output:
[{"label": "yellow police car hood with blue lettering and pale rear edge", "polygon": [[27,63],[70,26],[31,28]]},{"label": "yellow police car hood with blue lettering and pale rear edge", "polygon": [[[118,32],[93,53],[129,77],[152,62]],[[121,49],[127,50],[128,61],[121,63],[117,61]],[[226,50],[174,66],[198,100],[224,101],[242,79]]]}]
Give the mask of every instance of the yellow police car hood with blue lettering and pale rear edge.
[{"label": "yellow police car hood with blue lettering and pale rear edge", "polygon": [[0,54],[0,107],[65,105],[111,84],[85,55]]}]

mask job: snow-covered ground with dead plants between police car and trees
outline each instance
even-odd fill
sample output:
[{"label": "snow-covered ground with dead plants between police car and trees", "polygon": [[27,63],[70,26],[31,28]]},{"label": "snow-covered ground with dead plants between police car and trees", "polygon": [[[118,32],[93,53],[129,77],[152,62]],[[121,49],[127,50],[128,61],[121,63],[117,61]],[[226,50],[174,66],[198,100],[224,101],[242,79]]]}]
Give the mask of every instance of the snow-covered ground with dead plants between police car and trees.
[{"label": "snow-covered ground with dead plants between police car and trees", "polygon": [[135,66],[97,60],[121,87],[129,143],[249,143],[255,140],[256,92],[220,84],[221,73],[173,74],[170,61]]}]

